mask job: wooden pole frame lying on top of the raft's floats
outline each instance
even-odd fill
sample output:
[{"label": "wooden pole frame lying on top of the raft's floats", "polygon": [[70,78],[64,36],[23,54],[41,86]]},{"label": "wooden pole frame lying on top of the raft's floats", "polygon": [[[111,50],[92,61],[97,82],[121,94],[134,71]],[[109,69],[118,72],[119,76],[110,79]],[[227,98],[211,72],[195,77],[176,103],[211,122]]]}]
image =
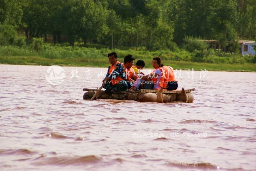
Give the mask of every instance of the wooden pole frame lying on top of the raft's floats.
[{"label": "wooden pole frame lying on top of the raft's floats", "polygon": [[[82,89],[83,91],[97,91],[98,89]],[[195,89],[187,89],[185,90],[186,93],[189,93],[191,91],[195,91]],[[138,91],[121,91],[121,92],[117,92],[117,93],[113,93],[113,94],[126,94],[126,93],[156,93],[158,92],[158,90],[148,90],[148,89],[141,89]],[[181,93],[182,90],[173,90],[173,91],[168,91],[168,90],[163,90],[162,93],[164,94],[179,94]]]}]

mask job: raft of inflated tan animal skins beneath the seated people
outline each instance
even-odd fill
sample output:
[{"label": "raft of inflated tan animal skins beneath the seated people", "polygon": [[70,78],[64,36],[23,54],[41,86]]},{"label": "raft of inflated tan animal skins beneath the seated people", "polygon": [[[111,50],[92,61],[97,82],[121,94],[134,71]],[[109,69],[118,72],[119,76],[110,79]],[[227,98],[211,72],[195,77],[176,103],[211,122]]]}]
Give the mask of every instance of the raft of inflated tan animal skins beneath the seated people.
[{"label": "raft of inflated tan animal skins beneath the seated people", "polygon": [[[83,91],[87,91],[84,93],[83,99],[89,100],[93,97],[93,95],[98,91],[97,89],[83,89]],[[192,103],[194,101],[194,96],[191,91],[195,91],[195,89],[183,89],[182,90],[148,90],[141,89],[139,91],[122,91],[117,93],[106,93],[105,91],[100,91],[98,95],[96,95],[95,99],[115,99],[115,100],[135,100],[137,102],[159,102],[159,103],[167,103],[167,102],[185,102]]]}]

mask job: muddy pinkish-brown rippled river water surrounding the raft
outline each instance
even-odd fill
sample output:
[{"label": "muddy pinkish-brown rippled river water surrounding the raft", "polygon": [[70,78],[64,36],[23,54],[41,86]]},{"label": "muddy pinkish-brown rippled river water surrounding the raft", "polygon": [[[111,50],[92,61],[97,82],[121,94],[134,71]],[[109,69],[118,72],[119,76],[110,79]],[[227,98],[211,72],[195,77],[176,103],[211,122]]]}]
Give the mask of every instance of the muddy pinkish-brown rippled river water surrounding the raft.
[{"label": "muddy pinkish-brown rippled river water surrounding the raft", "polygon": [[256,73],[176,71],[194,102],[159,104],[82,100],[107,69],[62,69],[0,65],[1,171],[255,170]]}]

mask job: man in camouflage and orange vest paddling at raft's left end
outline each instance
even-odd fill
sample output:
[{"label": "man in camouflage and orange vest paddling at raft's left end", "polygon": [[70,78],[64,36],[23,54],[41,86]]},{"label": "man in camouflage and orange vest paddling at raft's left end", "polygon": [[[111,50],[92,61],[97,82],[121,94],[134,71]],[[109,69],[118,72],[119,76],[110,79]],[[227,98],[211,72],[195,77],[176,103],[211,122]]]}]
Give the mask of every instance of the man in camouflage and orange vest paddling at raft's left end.
[{"label": "man in camouflage and orange vest paddling at raft's left end", "polygon": [[115,52],[108,54],[108,61],[111,65],[109,65],[106,77],[102,81],[103,88],[106,89],[105,92],[126,91],[128,89],[127,74],[122,63],[117,61],[117,54]]}]

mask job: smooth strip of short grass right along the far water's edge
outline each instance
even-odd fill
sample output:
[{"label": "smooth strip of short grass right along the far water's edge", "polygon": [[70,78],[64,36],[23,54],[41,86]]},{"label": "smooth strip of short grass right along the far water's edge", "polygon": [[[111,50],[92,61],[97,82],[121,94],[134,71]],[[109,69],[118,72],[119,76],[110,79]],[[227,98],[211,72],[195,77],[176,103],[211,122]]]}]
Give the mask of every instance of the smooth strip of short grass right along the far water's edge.
[{"label": "smooth strip of short grass right along the far water's edge", "polygon": [[[143,59],[146,62],[145,68],[152,68],[151,59]],[[121,60],[120,60],[121,61]],[[212,64],[212,63],[196,63],[188,61],[164,61],[165,65],[172,66],[174,69],[182,70],[201,70],[208,71],[242,71],[256,72],[256,64]],[[12,65],[60,65],[60,66],[78,66],[78,67],[108,67],[108,58],[95,58],[93,60],[83,58],[72,59],[49,59],[38,56],[6,56],[0,57],[0,63]]]}]

